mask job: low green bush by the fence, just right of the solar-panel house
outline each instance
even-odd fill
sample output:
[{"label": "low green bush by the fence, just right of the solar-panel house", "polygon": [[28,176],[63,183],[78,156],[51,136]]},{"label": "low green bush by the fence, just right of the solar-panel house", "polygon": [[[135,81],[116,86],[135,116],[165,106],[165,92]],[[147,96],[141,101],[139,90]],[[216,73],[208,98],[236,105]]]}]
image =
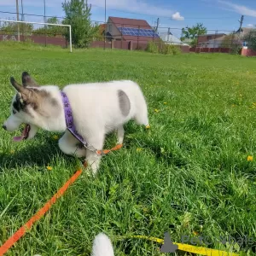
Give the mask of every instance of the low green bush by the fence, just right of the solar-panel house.
[{"label": "low green bush by the fence, just right of the solar-panel house", "polygon": [[165,44],[163,41],[160,43],[148,42],[146,51],[150,53],[160,53],[163,55],[177,55],[181,53],[181,49],[177,45]]}]

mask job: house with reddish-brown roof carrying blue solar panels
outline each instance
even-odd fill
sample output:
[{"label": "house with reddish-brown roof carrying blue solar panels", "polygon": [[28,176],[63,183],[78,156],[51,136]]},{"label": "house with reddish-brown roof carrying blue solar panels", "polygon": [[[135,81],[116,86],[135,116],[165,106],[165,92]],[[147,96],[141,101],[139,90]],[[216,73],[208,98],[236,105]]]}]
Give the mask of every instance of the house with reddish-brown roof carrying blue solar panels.
[{"label": "house with reddish-brown roof carrying blue solar panels", "polygon": [[146,20],[108,17],[106,32],[108,40],[148,44],[148,41],[160,39]]}]

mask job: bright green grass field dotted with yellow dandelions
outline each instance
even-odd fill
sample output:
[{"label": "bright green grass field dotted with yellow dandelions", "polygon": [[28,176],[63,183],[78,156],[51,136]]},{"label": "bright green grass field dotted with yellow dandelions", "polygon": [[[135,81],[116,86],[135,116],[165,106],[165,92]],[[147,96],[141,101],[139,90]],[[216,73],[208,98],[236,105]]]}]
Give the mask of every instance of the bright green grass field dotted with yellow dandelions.
[{"label": "bright green grass field dotted with yellow dandelions", "polygon": [[[23,71],[40,84],[132,79],[143,88],[151,129],[125,125],[125,147],[102,159],[95,178],[85,172],[7,255],[90,255],[105,232],[116,255],[160,255],[159,244],[202,236],[201,245],[228,250],[221,236],[256,247],[256,60],[236,55],[151,55],[0,44],[0,120],[9,116]],[[0,245],[72,176],[77,160],[54,136],[39,131],[13,143],[0,130]],[[105,148],[113,146],[108,137]],[[247,156],[255,160],[248,161]],[[51,166],[49,171],[46,167]],[[190,243],[191,242],[187,242]]]}]

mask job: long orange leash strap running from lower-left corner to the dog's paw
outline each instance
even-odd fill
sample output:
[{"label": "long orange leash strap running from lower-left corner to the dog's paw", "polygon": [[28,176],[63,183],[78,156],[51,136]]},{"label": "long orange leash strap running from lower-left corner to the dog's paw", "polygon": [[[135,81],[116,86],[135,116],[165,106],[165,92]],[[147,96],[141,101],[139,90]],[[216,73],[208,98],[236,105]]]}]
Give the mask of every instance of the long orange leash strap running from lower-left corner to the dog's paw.
[{"label": "long orange leash strap running from lower-left corner to the dog's paw", "polygon": [[64,194],[67,188],[80,176],[82,170],[75,172],[72,177],[70,177],[67,182],[57,191],[57,193],[42,207],[30,220],[23,225],[20,230],[16,231],[16,233],[7,240],[2,247],[0,247],[0,256],[3,253],[6,253],[10,247],[12,247],[16,241],[20,239],[21,236],[24,236],[27,230],[32,228],[32,224],[36,222],[39,218],[42,218],[45,212],[49,211],[49,208],[55,204],[55,201]]}]

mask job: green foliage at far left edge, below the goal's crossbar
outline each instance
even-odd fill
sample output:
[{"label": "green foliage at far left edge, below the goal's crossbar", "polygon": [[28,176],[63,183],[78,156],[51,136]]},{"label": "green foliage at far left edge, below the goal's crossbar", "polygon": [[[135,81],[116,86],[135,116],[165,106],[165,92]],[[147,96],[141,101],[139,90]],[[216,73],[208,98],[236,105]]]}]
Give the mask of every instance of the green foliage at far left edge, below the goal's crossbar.
[{"label": "green foliage at far left edge, below the goal's crossbar", "polygon": [[[29,36],[32,33],[33,26],[29,23],[19,24],[20,35]],[[0,34],[16,35],[18,33],[18,23],[15,22],[3,22],[0,27]]]}]

